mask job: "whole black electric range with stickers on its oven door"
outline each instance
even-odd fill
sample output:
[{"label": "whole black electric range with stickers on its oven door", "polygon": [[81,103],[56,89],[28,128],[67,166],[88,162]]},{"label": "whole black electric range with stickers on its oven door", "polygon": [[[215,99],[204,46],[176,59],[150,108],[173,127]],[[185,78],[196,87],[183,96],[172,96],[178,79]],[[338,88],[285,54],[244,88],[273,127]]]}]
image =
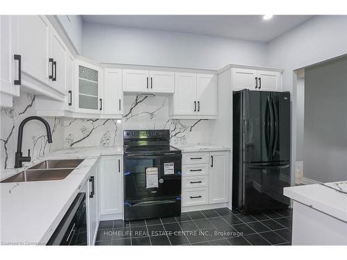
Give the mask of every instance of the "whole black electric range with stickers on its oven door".
[{"label": "whole black electric range with stickers on its oven door", "polygon": [[179,216],[182,153],[169,130],[124,130],[124,219]]}]

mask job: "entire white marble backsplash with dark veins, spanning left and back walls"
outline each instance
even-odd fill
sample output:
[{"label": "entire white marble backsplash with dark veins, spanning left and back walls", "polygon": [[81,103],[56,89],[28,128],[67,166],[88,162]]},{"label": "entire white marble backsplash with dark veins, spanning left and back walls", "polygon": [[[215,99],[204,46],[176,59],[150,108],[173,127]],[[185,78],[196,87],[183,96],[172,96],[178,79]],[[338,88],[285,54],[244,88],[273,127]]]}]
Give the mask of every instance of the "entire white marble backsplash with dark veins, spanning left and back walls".
[{"label": "entire white marble backsplash with dark veins, spanning left and back walls", "polygon": [[[14,98],[14,105],[1,108],[0,153],[1,167],[13,168],[17,150],[18,126],[35,113],[35,96],[21,93]],[[138,94],[124,96],[123,119],[71,119],[45,118],[52,130],[53,144],[48,144],[44,125],[29,121],[24,127],[22,152],[31,149],[33,159],[51,150],[81,146],[122,146],[125,129],[168,129],[171,144],[208,143],[208,120],[169,119],[167,96]]]}]

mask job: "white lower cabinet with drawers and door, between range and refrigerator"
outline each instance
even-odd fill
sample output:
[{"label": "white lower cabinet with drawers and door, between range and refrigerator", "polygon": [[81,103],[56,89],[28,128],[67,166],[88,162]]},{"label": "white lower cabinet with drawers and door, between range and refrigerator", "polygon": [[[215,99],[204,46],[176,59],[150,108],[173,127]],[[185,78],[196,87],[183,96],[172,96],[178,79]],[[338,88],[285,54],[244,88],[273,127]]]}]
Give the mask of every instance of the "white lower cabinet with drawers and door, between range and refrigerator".
[{"label": "white lower cabinet with drawers and door, between range and refrigerator", "polygon": [[228,202],[228,151],[183,153],[182,160],[183,208]]}]

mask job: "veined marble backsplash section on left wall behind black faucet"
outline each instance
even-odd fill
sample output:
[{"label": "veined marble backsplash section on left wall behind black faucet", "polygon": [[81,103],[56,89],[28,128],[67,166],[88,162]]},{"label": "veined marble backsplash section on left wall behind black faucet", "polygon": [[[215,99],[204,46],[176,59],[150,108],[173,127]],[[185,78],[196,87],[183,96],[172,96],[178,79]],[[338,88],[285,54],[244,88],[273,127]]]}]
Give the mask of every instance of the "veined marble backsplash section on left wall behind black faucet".
[{"label": "veined marble backsplash section on left wall behind black faucet", "polygon": [[[35,116],[35,96],[21,93],[14,98],[13,107],[1,107],[0,117],[0,169],[13,168],[15,165],[15,152],[17,151],[17,137],[19,124],[28,116]],[[46,128],[37,120],[29,121],[24,125],[22,152],[26,156],[31,150],[31,158],[41,157],[51,150],[64,147],[63,123],[60,117],[45,118],[51,126],[53,143],[47,141]]]}]

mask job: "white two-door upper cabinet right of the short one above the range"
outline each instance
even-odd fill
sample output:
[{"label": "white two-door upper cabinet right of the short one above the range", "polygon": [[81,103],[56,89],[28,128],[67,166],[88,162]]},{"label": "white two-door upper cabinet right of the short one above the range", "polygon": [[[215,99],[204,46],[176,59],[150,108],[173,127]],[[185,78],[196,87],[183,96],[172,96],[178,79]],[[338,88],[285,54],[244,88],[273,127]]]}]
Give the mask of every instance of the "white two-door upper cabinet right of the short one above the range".
[{"label": "white two-door upper cabinet right of the short one above the range", "polygon": [[174,119],[214,119],[217,115],[217,76],[175,73],[175,93],[169,115]]}]

